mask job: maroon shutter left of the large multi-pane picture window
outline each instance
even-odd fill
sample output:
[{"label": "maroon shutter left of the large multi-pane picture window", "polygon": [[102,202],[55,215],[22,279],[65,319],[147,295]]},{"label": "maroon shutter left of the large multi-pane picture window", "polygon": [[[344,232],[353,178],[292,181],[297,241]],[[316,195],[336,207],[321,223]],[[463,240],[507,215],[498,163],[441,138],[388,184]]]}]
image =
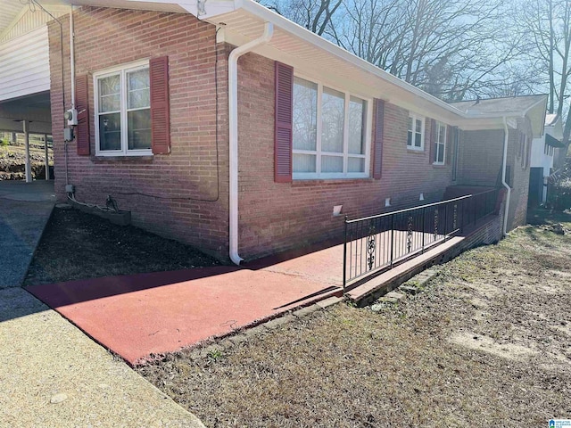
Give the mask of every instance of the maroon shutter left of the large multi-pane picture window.
[{"label": "maroon shutter left of the large multi-pane picture window", "polygon": [[274,136],[274,181],[292,181],[292,136],[294,120],[294,69],[276,62],[276,118]]}]

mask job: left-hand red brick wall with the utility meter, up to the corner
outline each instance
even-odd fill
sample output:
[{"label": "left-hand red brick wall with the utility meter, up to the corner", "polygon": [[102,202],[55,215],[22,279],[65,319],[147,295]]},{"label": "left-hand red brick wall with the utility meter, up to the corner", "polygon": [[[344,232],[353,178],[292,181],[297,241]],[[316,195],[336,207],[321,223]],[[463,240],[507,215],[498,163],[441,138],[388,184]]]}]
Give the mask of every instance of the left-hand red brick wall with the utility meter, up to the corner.
[{"label": "left-hand red brick wall with the utility meter, up to the corner", "polygon": [[[68,147],[69,182],[82,202],[107,194],[133,223],[157,234],[228,253],[228,52],[215,45],[215,27],[189,14],[83,7],[74,13],[76,73],[89,73],[91,156]],[[70,107],[68,20],[63,23],[65,105]],[[65,199],[60,29],[49,26],[55,190]],[[218,52],[218,166],[215,61]],[[168,55],[171,152],[146,158],[96,158],[93,76],[108,67]],[[161,196],[154,198],[137,194]],[[205,202],[198,200],[214,201]]]}]

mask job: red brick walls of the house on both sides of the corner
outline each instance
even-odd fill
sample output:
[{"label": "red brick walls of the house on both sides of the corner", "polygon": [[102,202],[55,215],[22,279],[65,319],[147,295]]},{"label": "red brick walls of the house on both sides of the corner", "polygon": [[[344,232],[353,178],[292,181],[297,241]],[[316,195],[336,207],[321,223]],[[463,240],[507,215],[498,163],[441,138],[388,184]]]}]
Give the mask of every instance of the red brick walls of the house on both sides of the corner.
[{"label": "red brick walls of the house on both sides of the corner", "polygon": [[[67,20],[62,22],[65,41],[69,39]],[[78,156],[75,144],[69,144],[67,173],[70,184],[76,185],[77,198],[103,204],[107,194],[112,194],[120,209],[132,212],[135,225],[194,244],[226,259],[229,47],[217,47],[214,26],[187,14],[84,7],[75,13],[75,26],[78,75],[144,58],[169,56],[172,145],[170,154],[145,159],[97,158],[93,154],[95,123],[92,119],[92,155]],[[57,24],[49,26],[49,36],[55,189],[62,200],[66,169]],[[65,105],[69,107],[69,45],[65,42],[63,49]],[[217,58],[218,118],[215,114]],[[385,198],[391,198],[392,208],[418,204],[419,193],[424,193],[427,202],[439,200],[445,188],[451,185],[451,166],[433,166],[429,160],[430,120],[426,119],[425,151],[407,150],[408,111],[390,103],[385,105],[381,180],[306,180],[276,184],[274,63],[248,53],[240,59],[238,81],[239,252],[246,259],[339,234],[343,230],[343,216],[332,216],[334,205],[343,204],[343,214],[354,218],[384,211]],[[91,75],[89,82],[93,117]],[[495,136],[489,138],[495,139]],[[461,169],[459,177],[462,177]],[[524,187],[526,191],[526,185]],[[121,193],[147,193],[158,197]],[[514,209],[514,215],[520,218],[520,205],[515,206],[518,208]]]}]

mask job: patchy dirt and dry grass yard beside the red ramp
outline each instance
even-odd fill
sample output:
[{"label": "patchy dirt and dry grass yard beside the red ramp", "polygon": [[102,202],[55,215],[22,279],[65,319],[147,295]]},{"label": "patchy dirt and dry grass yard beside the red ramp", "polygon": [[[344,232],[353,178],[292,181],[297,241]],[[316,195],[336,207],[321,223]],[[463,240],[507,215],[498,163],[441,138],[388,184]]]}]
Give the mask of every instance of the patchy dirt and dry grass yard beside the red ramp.
[{"label": "patchy dirt and dry grass yard beside the red ramp", "polygon": [[547,426],[571,417],[562,220],[464,253],[380,312],[340,304],[139,373],[209,427]]}]

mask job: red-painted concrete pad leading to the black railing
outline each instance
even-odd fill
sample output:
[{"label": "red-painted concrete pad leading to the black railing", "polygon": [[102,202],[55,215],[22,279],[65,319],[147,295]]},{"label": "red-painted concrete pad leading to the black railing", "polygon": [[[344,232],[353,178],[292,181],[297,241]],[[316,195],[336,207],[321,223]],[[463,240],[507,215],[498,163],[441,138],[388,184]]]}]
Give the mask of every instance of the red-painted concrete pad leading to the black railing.
[{"label": "red-painted concrete pad leading to the black railing", "polygon": [[247,268],[112,276],[28,291],[134,365],[340,295],[343,250],[340,257],[337,252],[333,247]]}]

